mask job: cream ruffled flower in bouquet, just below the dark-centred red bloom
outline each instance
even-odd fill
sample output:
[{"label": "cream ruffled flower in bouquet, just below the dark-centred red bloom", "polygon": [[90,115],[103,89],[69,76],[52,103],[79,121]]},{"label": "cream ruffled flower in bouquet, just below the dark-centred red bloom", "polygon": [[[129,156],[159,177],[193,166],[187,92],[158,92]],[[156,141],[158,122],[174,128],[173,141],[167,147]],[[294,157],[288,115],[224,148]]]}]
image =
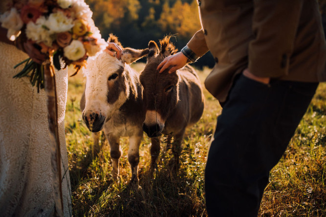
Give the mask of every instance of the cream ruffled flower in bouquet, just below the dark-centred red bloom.
[{"label": "cream ruffled flower in bouquet, just below the dark-centred red bloom", "polygon": [[45,23],[46,20],[43,16],[39,17],[36,23],[28,22],[26,25],[26,37],[36,43],[43,42],[47,46],[52,46],[55,36],[50,34]]}]

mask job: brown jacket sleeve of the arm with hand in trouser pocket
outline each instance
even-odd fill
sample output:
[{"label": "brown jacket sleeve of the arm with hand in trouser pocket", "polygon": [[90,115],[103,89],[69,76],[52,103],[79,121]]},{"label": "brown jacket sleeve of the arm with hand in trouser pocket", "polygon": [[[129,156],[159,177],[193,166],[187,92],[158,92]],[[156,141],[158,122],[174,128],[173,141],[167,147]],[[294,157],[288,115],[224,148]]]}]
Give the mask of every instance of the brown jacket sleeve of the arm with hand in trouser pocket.
[{"label": "brown jacket sleeve of the arm with hand in trouser pocket", "polygon": [[288,74],[303,0],[255,0],[249,70],[259,77]]}]

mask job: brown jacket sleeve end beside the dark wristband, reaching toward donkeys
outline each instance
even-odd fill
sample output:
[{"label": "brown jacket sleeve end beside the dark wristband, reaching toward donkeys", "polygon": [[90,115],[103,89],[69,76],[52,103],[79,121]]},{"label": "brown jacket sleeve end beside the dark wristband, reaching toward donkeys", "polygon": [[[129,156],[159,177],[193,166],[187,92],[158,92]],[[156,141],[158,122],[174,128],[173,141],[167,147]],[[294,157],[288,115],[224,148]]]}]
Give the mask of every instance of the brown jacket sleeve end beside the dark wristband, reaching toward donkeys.
[{"label": "brown jacket sleeve end beside the dark wristband, reaching toward donkeys", "polygon": [[205,53],[207,53],[209,49],[207,47],[205,35],[202,29],[195,33],[195,35],[187,43],[186,47],[194,52],[196,57],[202,57]]}]

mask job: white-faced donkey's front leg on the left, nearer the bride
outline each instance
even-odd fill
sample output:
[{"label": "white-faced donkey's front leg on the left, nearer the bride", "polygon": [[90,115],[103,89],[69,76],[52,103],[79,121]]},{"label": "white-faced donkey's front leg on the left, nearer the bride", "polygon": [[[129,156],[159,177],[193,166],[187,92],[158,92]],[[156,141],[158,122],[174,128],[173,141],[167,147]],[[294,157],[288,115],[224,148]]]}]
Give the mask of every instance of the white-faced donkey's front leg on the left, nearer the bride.
[{"label": "white-faced donkey's front leg on the left, nearer the bride", "polygon": [[107,138],[110,145],[110,155],[112,158],[112,177],[117,180],[119,174],[119,159],[121,156],[120,151],[120,137],[107,134]]}]

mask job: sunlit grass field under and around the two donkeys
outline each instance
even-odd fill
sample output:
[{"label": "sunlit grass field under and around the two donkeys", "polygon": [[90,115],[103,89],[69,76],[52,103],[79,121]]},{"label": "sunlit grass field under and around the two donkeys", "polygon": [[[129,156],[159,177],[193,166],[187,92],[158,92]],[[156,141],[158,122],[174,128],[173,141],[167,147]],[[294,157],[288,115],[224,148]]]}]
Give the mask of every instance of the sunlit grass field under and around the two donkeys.
[{"label": "sunlit grass field under and around the two donkeys", "polygon": [[[141,70],[144,64],[132,65]],[[201,81],[209,73],[197,70]],[[149,174],[150,139],[144,133],[140,146],[139,187],[130,186],[128,139],[123,151],[120,177],[111,177],[109,145],[101,136],[101,150],[93,149],[92,136],[82,122],[79,101],[84,89],[82,74],[69,78],[65,113],[73,215],[80,216],[207,216],[204,168],[207,148],[221,108],[206,90],[205,110],[199,122],[186,131],[181,166],[169,169],[171,154],[164,153],[161,138],[158,170]],[[296,130],[283,158],[270,174],[261,202],[260,216],[326,216],[326,84],[317,93]]]}]

